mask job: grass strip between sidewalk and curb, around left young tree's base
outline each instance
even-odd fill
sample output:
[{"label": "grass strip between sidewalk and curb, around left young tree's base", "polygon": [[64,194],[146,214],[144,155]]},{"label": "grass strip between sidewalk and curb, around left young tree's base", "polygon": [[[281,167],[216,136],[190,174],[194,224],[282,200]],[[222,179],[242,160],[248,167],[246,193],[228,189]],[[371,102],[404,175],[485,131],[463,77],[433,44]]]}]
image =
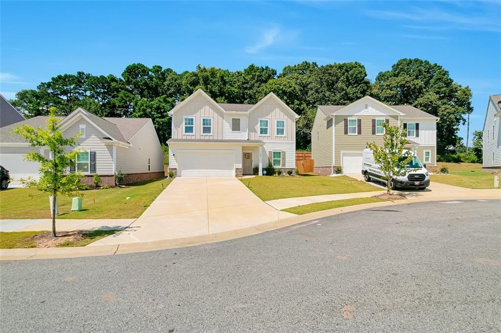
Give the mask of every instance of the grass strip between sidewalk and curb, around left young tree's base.
[{"label": "grass strip between sidewalk and curb, around left young tree's base", "polygon": [[[84,232],[85,238],[74,242],[63,242],[58,244],[57,247],[74,247],[85,246],[96,240],[112,235],[120,230],[94,230]],[[13,231],[13,232],[0,232],[0,248],[30,248],[35,247],[33,237],[39,234],[47,233],[49,231]]]}]

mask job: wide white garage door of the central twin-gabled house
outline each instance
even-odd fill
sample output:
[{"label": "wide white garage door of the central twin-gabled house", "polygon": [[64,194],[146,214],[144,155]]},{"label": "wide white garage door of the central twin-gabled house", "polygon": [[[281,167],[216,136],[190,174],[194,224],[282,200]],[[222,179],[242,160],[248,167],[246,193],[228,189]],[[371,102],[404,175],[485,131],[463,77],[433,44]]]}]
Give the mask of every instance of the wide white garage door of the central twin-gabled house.
[{"label": "wide white garage door of the central twin-gabled house", "polygon": [[234,150],[178,151],[177,168],[181,177],[233,177]]}]

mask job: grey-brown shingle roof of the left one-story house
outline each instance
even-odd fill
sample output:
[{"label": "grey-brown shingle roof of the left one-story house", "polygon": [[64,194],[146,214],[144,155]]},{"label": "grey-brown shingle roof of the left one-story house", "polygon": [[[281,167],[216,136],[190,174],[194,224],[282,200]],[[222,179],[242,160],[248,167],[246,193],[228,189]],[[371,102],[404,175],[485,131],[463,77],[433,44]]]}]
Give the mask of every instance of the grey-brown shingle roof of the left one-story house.
[{"label": "grey-brown shingle roof of the left one-story house", "polygon": [[[130,140],[139,130],[148,122],[150,118],[113,118],[106,117],[101,118],[95,114],[78,108],[70,115],[63,118],[61,125],[64,125],[71,119],[75,118],[78,114],[84,114],[85,118],[89,119],[94,125],[99,127],[99,129],[106,133],[103,135],[110,135],[110,139],[129,144]],[[14,128],[19,125],[30,125],[33,127],[45,128],[48,116],[37,116],[30,118],[6,127],[0,128],[0,142],[16,142],[23,143],[25,140],[20,135],[12,133]],[[102,139],[108,139],[108,137],[103,136]]]}]

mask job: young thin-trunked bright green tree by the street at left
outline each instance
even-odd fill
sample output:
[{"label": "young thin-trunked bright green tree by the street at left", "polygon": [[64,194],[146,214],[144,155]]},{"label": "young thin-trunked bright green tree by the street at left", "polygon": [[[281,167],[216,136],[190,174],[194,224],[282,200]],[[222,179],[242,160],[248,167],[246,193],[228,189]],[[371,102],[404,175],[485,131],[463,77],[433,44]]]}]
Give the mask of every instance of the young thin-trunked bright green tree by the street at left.
[{"label": "young thin-trunked bright green tree by the street at left", "polygon": [[55,116],[56,109],[51,108],[51,116],[47,120],[46,128],[33,128],[29,125],[17,126],[14,133],[21,135],[31,147],[47,147],[51,157],[47,158],[41,153],[31,152],[26,154],[25,159],[40,163],[40,179],[21,179],[27,187],[37,188],[39,191],[48,192],[52,195],[52,236],[56,237],[56,198],[58,195],[70,196],[77,191],[82,174],[80,172],[69,173],[71,165],[74,165],[79,150],[66,152],[68,147],[78,144],[77,138],[80,133],[72,138],[65,138],[59,122]]}]

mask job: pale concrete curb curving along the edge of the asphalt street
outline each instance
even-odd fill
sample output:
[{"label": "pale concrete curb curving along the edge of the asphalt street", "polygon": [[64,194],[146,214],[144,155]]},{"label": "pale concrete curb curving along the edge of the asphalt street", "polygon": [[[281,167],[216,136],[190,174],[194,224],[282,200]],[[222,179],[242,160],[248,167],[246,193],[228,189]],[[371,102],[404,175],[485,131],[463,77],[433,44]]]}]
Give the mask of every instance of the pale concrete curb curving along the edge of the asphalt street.
[{"label": "pale concrete curb curving along the edge of the asphalt street", "polygon": [[450,201],[450,200],[500,200],[500,198],[492,198],[489,196],[474,196],[469,198],[458,197],[436,197],[436,198],[411,198],[398,201],[384,201],[376,203],[367,203],[355,206],[347,206],[342,208],[334,208],[322,210],[318,212],[308,213],[289,217],[282,220],[263,223],[257,226],[246,227],[231,231],[224,231],[209,235],[200,235],[186,238],[165,239],[151,242],[127,243],[119,245],[100,245],[100,246],[84,246],[84,247],[50,247],[50,248],[16,248],[16,249],[1,249],[0,261],[5,260],[27,260],[27,259],[56,259],[56,258],[76,258],[87,256],[101,256],[125,254],[145,251],[156,251],[171,248],[179,248],[186,246],[195,246],[209,244],[225,240],[236,239],[240,237],[252,236],[266,231],[272,231],[298,223],[303,223],[318,218],[334,216],[342,213],[348,213],[368,208],[384,207],[401,205],[417,202],[434,202],[434,201]]}]

